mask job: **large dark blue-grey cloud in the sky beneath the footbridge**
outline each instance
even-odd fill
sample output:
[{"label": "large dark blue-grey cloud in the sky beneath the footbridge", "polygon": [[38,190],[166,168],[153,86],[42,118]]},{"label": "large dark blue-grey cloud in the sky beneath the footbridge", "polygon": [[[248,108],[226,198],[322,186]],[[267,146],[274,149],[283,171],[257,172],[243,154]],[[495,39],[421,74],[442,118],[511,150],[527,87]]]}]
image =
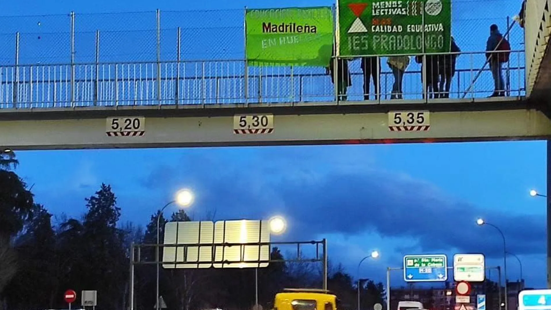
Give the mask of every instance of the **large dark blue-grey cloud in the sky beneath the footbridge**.
[{"label": "large dark blue-grey cloud in the sky beneath the footbridge", "polygon": [[215,206],[218,219],[284,214],[289,238],[300,240],[323,233],[375,232],[414,240],[397,246],[398,252],[453,248],[499,257],[501,236],[491,226],[476,225],[482,216],[501,227],[507,251],[545,251],[539,217],[485,210],[451,198],[434,184],[377,167],[366,148],[195,152],[174,165],[154,168],[141,183],[149,189],[194,184],[197,208]]}]

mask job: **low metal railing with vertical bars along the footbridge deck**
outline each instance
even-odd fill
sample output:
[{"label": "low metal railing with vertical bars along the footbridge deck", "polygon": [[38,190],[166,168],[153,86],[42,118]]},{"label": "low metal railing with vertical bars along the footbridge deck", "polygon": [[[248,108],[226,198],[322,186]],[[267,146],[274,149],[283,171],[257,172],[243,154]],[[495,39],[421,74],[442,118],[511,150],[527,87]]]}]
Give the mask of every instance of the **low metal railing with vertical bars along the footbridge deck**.
[{"label": "low metal railing with vertical bars along the footbridge deck", "polygon": [[[457,58],[450,100],[493,93],[485,52]],[[393,75],[379,57],[378,102],[390,100]],[[523,51],[512,51],[503,66],[506,95],[525,95]],[[337,62],[338,63],[338,62]],[[348,100],[364,100],[359,59],[349,61]],[[482,71],[480,77],[477,73]],[[403,78],[403,99],[423,99],[420,65],[410,62]],[[57,108],[146,105],[273,104],[337,101],[324,68],[249,67],[245,61],[168,61],[0,66],[0,108]],[[371,86],[374,89],[374,86]],[[374,94],[374,91],[372,91]],[[375,101],[375,102],[377,102]]]}]

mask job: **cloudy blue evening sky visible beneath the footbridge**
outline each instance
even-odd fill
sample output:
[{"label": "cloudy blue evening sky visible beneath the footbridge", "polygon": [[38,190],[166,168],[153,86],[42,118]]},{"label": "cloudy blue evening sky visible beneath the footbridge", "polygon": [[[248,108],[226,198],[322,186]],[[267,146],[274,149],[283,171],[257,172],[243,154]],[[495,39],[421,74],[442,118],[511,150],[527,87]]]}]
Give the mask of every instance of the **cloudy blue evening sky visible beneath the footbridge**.
[{"label": "cloudy blue evening sky visible beneath the footbridge", "polygon": [[[201,219],[283,215],[280,240],[326,237],[353,274],[383,280],[404,254],[482,252],[502,262],[503,230],[528,285],[545,285],[545,143],[442,143],[264,148],[21,151],[18,173],[52,213],[79,216],[84,198],[112,184],[123,220],[146,224],[177,189],[191,187]],[[139,167],[139,168],[137,168]],[[509,277],[518,263],[510,258]],[[393,284],[401,285],[393,274]],[[495,279],[495,273],[493,276]]]}]

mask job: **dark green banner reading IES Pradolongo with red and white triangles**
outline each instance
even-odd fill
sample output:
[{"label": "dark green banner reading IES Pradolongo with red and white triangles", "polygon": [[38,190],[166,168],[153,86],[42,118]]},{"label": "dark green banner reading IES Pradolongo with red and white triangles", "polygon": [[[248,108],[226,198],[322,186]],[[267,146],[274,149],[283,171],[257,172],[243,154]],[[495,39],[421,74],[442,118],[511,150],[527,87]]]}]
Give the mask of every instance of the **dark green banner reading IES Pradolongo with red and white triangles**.
[{"label": "dark green banner reading IES Pradolongo with red and white triangles", "polygon": [[340,56],[450,52],[451,0],[338,0],[338,14]]}]

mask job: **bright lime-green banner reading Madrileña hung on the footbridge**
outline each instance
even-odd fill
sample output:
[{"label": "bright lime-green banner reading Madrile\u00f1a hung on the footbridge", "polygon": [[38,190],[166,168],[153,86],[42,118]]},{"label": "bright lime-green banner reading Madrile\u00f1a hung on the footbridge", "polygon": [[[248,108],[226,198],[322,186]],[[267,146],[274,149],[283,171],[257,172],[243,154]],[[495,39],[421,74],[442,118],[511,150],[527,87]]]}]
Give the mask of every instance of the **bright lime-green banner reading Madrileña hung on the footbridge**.
[{"label": "bright lime-green banner reading Madrile\u00f1a hung on the footbridge", "polygon": [[327,67],[333,46],[331,7],[251,9],[245,14],[251,66]]}]

